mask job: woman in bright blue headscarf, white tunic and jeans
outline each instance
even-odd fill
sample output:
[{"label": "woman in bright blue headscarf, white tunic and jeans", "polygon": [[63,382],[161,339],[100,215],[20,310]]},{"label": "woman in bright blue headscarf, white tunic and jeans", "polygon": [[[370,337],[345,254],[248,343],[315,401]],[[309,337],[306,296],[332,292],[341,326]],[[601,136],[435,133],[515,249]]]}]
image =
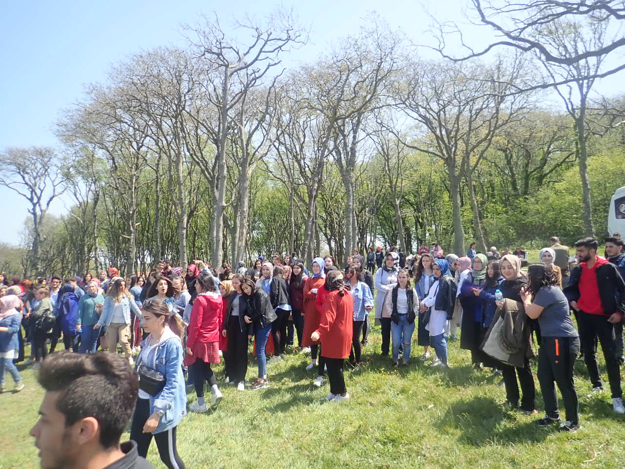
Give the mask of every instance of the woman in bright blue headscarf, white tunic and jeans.
[{"label": "woman in bright blue headscarf, white tunic and jeans", "polygon": [[454,313],[456,302],[456,283],[449,276],[449,263],[439,259],[432,265],[436,280],[429,289],[426,298],[421,303],[421,311],[430,309],[429,321],[426,329],[429,331],[430,344],[436,351],[436,360],[433,367],[447,368],[447,342],[445,340],[445,325]]}]

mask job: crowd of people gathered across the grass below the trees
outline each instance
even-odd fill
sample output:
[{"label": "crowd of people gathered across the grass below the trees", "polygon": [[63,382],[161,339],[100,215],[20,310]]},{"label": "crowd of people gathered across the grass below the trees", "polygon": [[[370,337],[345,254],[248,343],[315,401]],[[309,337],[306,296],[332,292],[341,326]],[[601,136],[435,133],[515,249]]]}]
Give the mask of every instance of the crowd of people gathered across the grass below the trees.
[{"label": "crowd of people gathered across the grass below the trees", "polygon": [[[532,373],[537,363],[545,416],[536,424],[576,431],[574,362],[583,358],[593,392],[602,391],[599,344],[612,408],[625,413],[620,375],[625,253],[620,236],[604,241],[605,258],[597,255],[594,238],[577,241],[571,257],[569,248],[553,237],[527,271],[522,270],[527,254],[520,247],[480,253],[473,243],[466,253],[446,255],[432,243],[414,256],[394,246],[386,252],[369,248],[366,257],[354,250],[341,268],[331,255],[306,264],[297,253],[274,253],[271,261],[259,256],[250,268],[240,262],[234,269],[227,263],[212,269],[194,261],[184,272],[164,260],[146,276],[129,278],[114,267],[98,278],[87,274],[64,281],[56,276],[7,281],[2,275],[0,390],[6,390],[5,369],[14,391],[24,387],[14,361],[24,360],[29,350],[47,391],[42,419],[32,430],[41,458],[79,457],[80,448],[62,453],[64,445],[54,440],[58,435],[48,433],[52,424],[43,416],[60,412],[66,426],[79,421],[91,425],[90,435],[99,438],[101,447],[114,445],[118,456],[132,458],[136,467],[144,467],[141,458],[154,437],[163,463],[184,468],[176,432],[187,411],[187,386],[196,393],[189,411],[214,409],[223,398],[221,380],[211,366],[224,361],[222,382],[256,391],[271,386],[268,368],[287,351],[306,353],[311,357],[306,370],[314,371],[311,385],[321,388],[327,380],[325,399],[346,401],[351,396],[344,369],[366,360],[362,348],[374,323],[381,326],[376,353],[387,357],[389,367],[409,366],[416,346],[423,349],[417,363],[443,371],[454,362],[447,343],[459,340],[476,372],[489,368],[501,376],[504,406],[528,415],[538,413]],[[66,352],[46,358],[61,337]],[[124,358],[118,356],[118,344]],[[257,362],[254,380],[246,380],[250,346]],[[100,389],[104,381],[116,386],[113,395],[126,393],[119,401],[128,403],[128,409],[114,424],[103,415],[111,397],[87,390]],[[204,398],[206,383],[209,401]],[[76,403],[81,393],[93,403]],[[106,411],[91,415],[93,408]],[[122,423],[131,415],[132,441],[120,445]],[[85,423],[90,417],[94,421]],[[83,450],[97,448],[94,443]]]}]

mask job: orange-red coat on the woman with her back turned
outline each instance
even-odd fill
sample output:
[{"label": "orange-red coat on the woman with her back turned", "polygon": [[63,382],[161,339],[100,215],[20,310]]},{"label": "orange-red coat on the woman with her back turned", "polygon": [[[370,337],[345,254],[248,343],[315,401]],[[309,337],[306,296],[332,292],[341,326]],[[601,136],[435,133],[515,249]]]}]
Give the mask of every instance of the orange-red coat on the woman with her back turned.
[{"label": "orange-red coat on the woman with her back turned", "polygon": [[[321,291],[321,290],[320,290]],[[347,358],[352,345],[354,301],[349,290],[327,294],[317,332],[321,336],[321,355],[326,358]]]}]

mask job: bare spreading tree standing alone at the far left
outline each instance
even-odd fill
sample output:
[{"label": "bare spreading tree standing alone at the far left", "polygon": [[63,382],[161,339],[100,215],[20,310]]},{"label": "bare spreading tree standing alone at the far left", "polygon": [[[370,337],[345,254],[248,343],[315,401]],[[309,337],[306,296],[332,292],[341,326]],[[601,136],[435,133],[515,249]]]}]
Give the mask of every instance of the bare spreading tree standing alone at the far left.
[{"label": "bare spreading tree standing alone at the far left", "polygon": [[52,148],[7,148],[0,153],[0,184],[28,201],[32,217],[32,245],[27,272],[41,275],[41,226],[52,201],[63,194],[63,160]]}]

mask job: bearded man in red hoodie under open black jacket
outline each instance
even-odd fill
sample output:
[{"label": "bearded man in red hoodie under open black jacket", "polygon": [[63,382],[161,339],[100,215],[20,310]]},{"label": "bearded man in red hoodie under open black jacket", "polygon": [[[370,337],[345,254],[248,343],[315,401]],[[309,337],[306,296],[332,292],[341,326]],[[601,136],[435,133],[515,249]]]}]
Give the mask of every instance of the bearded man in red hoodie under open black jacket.
[{"label": "bearded man in red hoodie under open black jacket", "polygon": [[571,271],[564,294],[571,308],[577,311],[577,328],[593,391],[603,389],[594,349],[599,338],[612,391],[612,408],[622,414],[625,407],[621,400],[621,370],[616,357],[614,325],[625,315],[625,282],[614,264],[597,256],[594,238],[582,238],[575,243],[575,249],[579,266]]}]

